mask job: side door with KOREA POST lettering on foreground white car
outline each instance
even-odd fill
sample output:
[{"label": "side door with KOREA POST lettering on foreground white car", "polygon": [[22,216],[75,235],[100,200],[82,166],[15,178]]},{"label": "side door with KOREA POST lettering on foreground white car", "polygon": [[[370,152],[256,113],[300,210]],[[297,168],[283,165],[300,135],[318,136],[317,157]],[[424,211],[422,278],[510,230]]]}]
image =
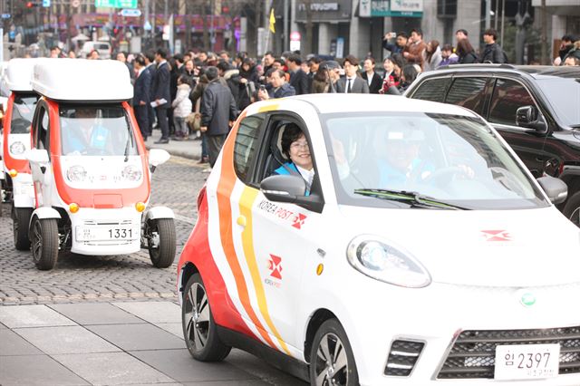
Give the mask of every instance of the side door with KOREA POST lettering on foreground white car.
[{"label": "side door with KOREA POST lettering on foreground white car", "polygon": [[[268,159],[271,160],[268,157],[271,155],[271,145],[279,143],[278,134],[281,134],[280,130],[288,122],[298,124],[306,132],[304,122],[297,117],[282,113],[268,117],[260,143],[261,157],[256,161],[253,177],[247,179],[245,192],[238,204],[241,222],[245,227],[241,235],[242,244],[247,258],[253,258],[248,263],[256,264],[252,278],[258,314],[264,320],[277,348],[299,357],[304,343],[297,338],[299,326],[295,322],[298,305],[304,302],[300,296],[301,282],[304,265],[316,253],[314,230],[321,227],[322,215],[295,204],[270,201],[259,189],[261,179],[267,177],[265,170]],[[238,131],[238,136],[243,131]],[[243,149],[244,146],[240,138],[237,147]],[[237,172],[243,176],[241,163],[235,163]],[[319,190],[320,184],[314,180],[311,194],[320,194]]]}]

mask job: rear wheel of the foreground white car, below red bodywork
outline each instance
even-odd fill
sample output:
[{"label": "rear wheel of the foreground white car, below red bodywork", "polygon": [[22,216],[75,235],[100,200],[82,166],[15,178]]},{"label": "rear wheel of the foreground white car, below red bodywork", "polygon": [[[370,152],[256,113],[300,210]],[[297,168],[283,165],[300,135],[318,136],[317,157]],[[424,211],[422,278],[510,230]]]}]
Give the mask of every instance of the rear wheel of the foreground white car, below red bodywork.
[{"label": "rear wheel of the foreground white car, below red bodywork", "polygon": [[194,359],[200,362],[220,362],[226,359],[231,347],[219,339],[206,287],[199,274],[192,275],[185,286],[181,324],[183,338]]}]

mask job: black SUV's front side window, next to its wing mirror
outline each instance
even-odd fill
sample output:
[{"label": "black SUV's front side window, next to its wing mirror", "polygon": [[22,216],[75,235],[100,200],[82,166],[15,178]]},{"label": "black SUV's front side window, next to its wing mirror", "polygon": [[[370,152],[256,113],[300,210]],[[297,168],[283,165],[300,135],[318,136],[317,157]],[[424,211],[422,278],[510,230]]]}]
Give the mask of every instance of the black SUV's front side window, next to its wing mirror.
[{"label": "black SUV's front side window, next to its wing mirror", "polygon": [[509,79],[498,79],[489,106],[488,121],[517,126],[517,109],[530,105],[535,105],[534,99],[523,84]]}]

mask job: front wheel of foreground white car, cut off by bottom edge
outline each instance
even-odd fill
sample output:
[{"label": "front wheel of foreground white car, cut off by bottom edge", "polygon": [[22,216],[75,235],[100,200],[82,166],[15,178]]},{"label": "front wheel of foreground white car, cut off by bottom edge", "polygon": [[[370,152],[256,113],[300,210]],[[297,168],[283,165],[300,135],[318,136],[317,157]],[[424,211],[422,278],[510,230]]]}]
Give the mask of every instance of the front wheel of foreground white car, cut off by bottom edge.
[{"label": "front wheel of foreground white car, cut off by bottom edge", "polygon": [[343,326],[329,319],[314,334],[310,349],[310,384],[313,386],[359,384],[353,349]]}]

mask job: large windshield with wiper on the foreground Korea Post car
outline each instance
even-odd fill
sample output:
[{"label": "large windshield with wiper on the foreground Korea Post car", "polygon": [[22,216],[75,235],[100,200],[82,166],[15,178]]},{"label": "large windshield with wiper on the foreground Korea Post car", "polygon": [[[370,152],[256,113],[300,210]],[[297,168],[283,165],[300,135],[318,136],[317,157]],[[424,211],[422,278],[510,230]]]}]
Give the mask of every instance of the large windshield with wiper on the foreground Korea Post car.
[{"label": "large windshield with wiper on the foreground Korea Post car", "polygon": [[325,114],[323,122],[343,204],[454,209],[549,205],[479,118],[368,112]]}]

